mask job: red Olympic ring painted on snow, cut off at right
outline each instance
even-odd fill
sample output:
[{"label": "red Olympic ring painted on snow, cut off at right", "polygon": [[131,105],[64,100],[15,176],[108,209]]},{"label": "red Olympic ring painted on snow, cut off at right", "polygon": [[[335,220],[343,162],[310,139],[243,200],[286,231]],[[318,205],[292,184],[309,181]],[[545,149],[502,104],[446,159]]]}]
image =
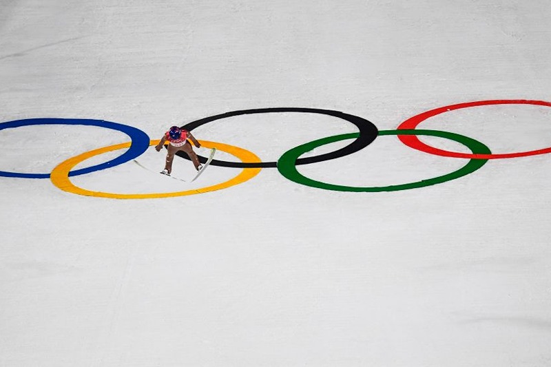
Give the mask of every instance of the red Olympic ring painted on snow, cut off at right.
[{"label": "red Olympic ring painted on snow, cut off at right", "polygon": [[[551,107],[551,102],[545,101],[530,101],[525,99],[497,99],[493,101],[474,101],[459,103],[457,105],[449,105],[445,107],[439,107],[437,109],[431,109],[430,111],[423,112],[411,118],[408,118],[403,123],[401,123],[397,129],[415,129],[417,125],[422,123],[427,118],[436,116],[438,114],[443,114],[444,112],[453,111],[454,109],[475,107],[475,106],[486,106],[486,105],[539,105]],[[445,156],[453,158],[470,158],[470,159],[497,159],[497,158],[517,158],[517,157],[526,157],[526,156],[536,156],[537,154],[547,154],[551,153],[551,147],[545,149],[531,150],[531,151],[519,151],[517,153],[506,153],[506,154],[472,154],[472,153],[459,153],[457,151],[448,151],[443,149],[438,149],[426,145],[415,135],[399,135],[399,140],[402,141],[405,145],[410,148],[424,151],[429,154],[435,154],[436,156]]]}]

